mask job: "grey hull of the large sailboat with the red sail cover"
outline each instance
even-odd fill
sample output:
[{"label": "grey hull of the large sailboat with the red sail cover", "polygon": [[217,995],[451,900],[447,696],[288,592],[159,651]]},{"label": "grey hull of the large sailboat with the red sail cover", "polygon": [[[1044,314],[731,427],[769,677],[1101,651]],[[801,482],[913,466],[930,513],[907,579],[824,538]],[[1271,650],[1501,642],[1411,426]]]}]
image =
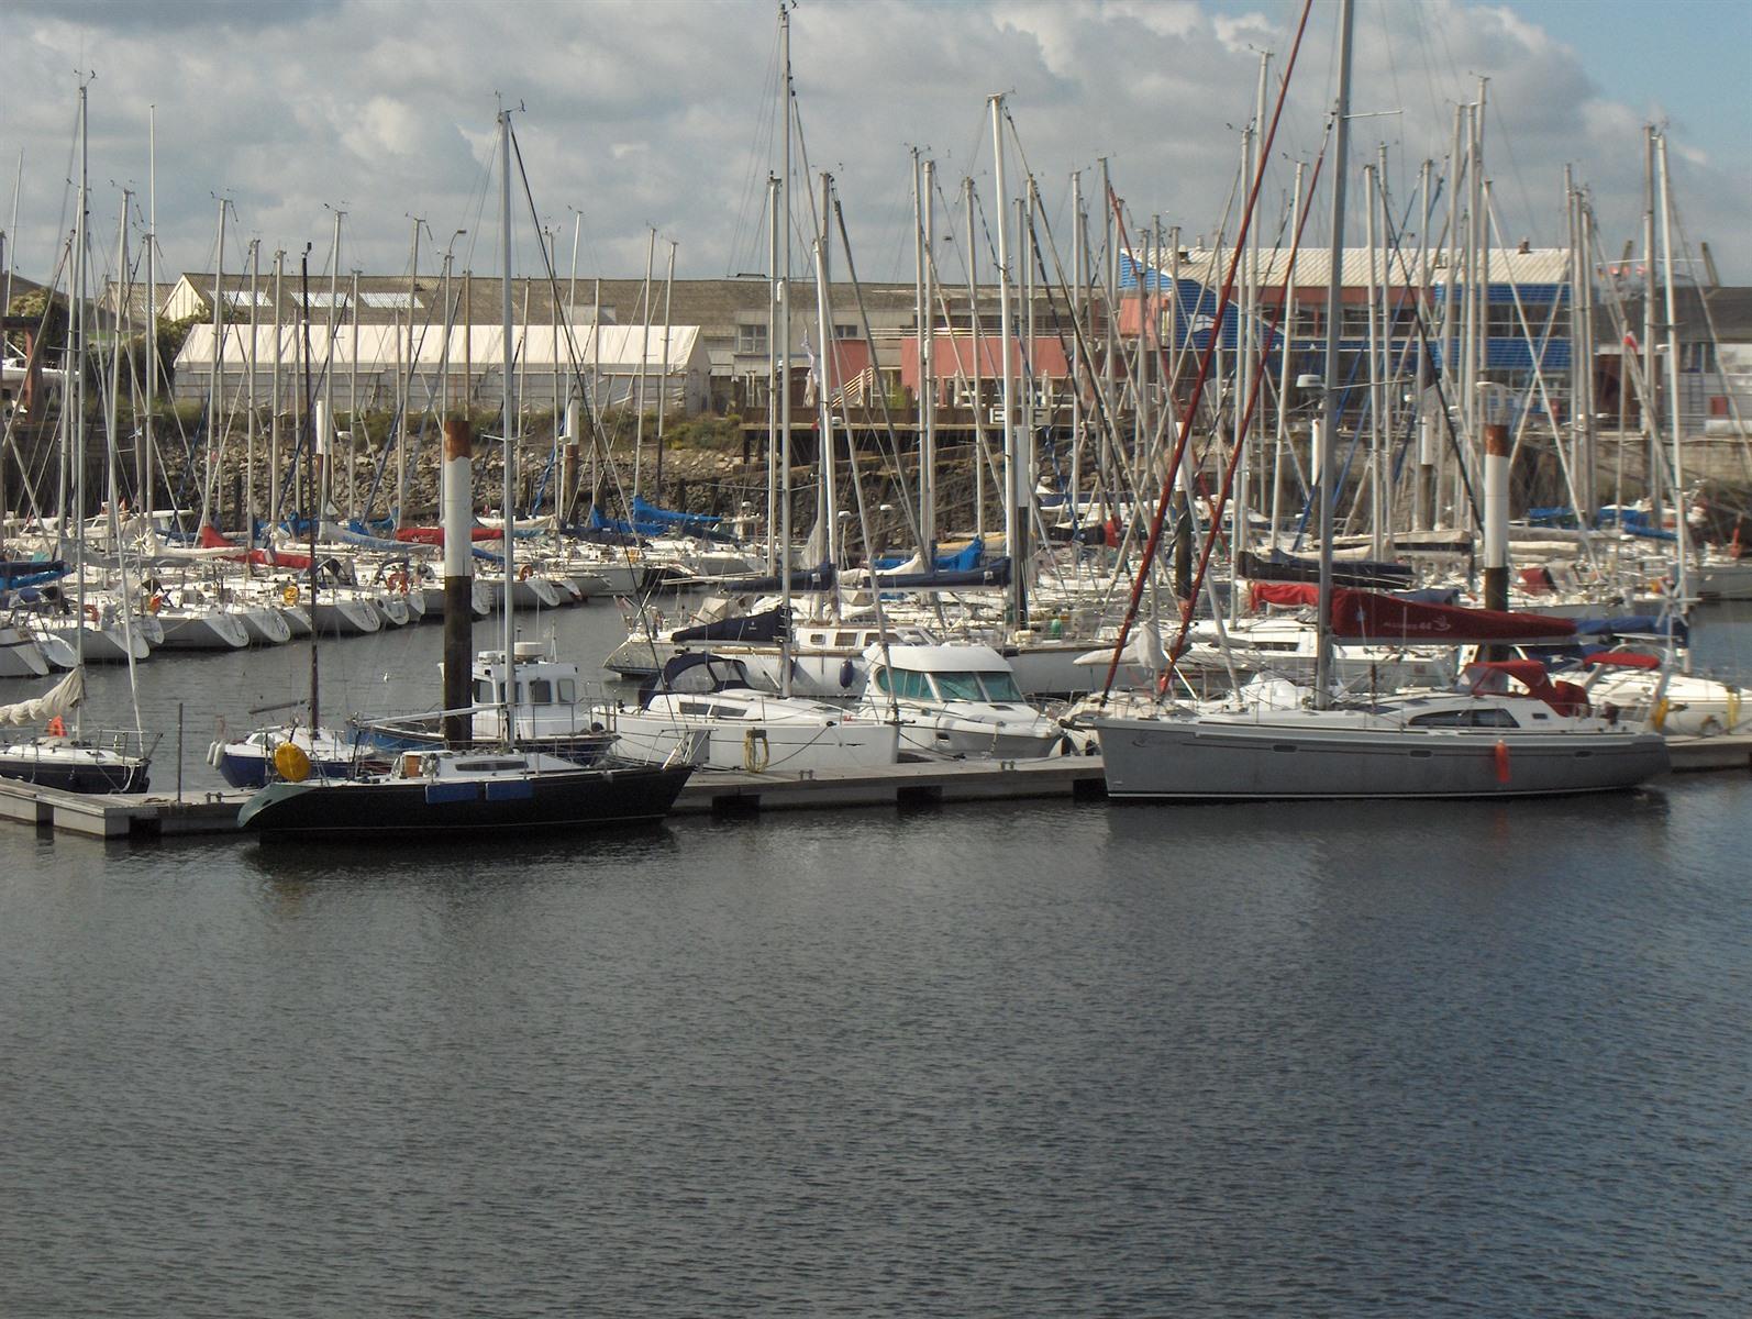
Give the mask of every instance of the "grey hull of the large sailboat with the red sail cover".
[{"label": "grey hull of the large sailboat with the red sail cover", "polygon": [[[1668,767],[1642,732],[1318,730],[1268,722],[1097,722],[1109,797],[1537,797],[1633,788]],[[1503,750],[1498,750],[1503,748]]]}]

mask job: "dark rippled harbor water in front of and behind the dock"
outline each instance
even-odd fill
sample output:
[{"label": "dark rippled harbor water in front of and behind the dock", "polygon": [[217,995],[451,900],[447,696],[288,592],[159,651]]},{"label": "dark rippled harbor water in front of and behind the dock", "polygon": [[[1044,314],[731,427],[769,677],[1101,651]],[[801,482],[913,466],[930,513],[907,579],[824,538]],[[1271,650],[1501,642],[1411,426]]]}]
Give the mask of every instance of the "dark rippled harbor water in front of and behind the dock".
[{"label": "dark rippled harbor water in front of and behind the dock", "polygon": [[[324,709],[429,706],[438,646],[326,648]],[[200,792],[214,720],[307,674],[158,657],[142,716],[182,706]],[[0,1314],[1743,1315],[1748,818],[1736,772],[442,851],[5,829]]]}]

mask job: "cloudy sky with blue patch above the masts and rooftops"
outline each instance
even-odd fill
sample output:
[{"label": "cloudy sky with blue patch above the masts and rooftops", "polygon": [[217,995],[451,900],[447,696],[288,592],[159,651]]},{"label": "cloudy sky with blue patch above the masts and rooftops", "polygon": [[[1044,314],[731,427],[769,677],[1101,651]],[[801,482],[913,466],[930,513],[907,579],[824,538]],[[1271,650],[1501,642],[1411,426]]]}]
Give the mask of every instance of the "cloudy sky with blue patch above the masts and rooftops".
[{"label": "cloudy sky with blue patch above the masts and rooftops", "polygon": [[[578,214],[580,277],[641,273],[648,228],[680,245],[682,275],[764,268],[773,0],[5,9],[0,226],[26,275],[47,273],[70,226],[75,70],[96,75],[89,177],[105,247],[119,189],[144,198],[156,107],[158,231],[172,270],[212,268],[219,196],[235,203],[230,270],[251,238],[270,256],[314,243],[312,270],[322,268],[331,208],[347,212],[343,272],[405,272],[413,215],[429,228],[422,272],[450,242],[459,268],[496,270],[496,95],[522,105],[522,158],[536,212],[559,233],[562,275]],[[1190,238],[1214,233],[1253,114],[1256,51],[1277,53],[1275,75],[1298,12],[1293,0],[802,0],[792,63],[809,163],[839,179],[858,275],[911,280],[909,147],[937,159],[951,196],[971,173],[990,207],[993,91],[1009,93],[1060,231],[1070,172],[1091,180],[1106,156],[1135,214],[1160,214]],[[1319,145],[1335,14],[1316,0],[1267,186],[1274,205],[1293,161]],[[1656,121],[1668,126],[1685,236],[1710,243],[1724,280],[1752,282],[1752,0],[1356,0],[1356,14],[1353,142],[1368,158],[1388,145],[1400,205],[1417,165],[1447,156],[1452,107],[1486,75],[1505,238],[1561,242],[1572,163],[1615,254],[1636,233],[1640,126]],[[452,240],[457,229],[470,233]],[[517,243],[520,268],[533,268],[533,240]]]}]

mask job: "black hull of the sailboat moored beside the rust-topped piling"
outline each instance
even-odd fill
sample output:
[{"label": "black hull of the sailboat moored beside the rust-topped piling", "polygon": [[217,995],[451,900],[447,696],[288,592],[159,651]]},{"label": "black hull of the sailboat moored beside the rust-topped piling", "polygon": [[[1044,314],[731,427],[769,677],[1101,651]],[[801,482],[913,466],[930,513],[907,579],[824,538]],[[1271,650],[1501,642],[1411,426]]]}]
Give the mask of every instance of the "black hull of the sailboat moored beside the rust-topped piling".
[{"label": "black hull of the sailboat moored beside the rust-topped piling", "polygon": [[238,813],[263,839],[406,839],[625,829],[662,820],[689,767],[578,769],[517,779],[272,783]]}]

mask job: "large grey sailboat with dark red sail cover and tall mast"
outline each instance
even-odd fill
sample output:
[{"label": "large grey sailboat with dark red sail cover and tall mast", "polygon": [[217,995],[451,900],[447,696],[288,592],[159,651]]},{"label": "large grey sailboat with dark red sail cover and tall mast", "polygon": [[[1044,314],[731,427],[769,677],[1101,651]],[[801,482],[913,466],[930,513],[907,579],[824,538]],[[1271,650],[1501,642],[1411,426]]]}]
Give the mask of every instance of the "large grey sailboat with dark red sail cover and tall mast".
[{"label": "large grey sailboat with dark red sail cover and tall mast", "polygon": [[[1339,103],[1335,109],[1335,184],[1332,201],[1332,286],[1326,303],[1326,420],[1321,426],[1319,503],[1319,653],[1310,706],[1258,702],[1230,709],[1155,708],[1139,715],[1104,716],[1095,730],[1106,758],[1107,792],[1114,797],[1170,801],[1326,799],[1326,797],[1496,797],[1603,792],[1631,788],[1668,767],[1666,744],[1596,716],[1586,692],[1552,683],[1535,660],[1470,666],[1449,692],[1333,702],[1330,694],[1335,622],[1353,618],[1372,636],[1407,641],[1440,636],[1466,639],[1463,610],[1416,606],[1368,592],[1335,590],[1332,436],[1339,389],[1339,268],[1344,252],[1344,172],[1351,84],[1351,0],[1340,5]],[[1300,40],[1300,39],[1298,39]],[[1291,54],[1293,61],[1293,54]],[[1279,102],[1279,110],[1282,109]],[[1275,130],[1275,119],[1274,119]],[[1254,182],[1254,191],[1258,180]],[[1235,256],[1246,238],[1237,240]],[[1218,305],[1221,322],[1226,293]],[[1211,340],[1216,342],[1216,331]],[[1202,377],[1200,377],[1202,380]],[[1197,401],[1197,392],[1195,392]],[[1195,408],[1188,408],[1186,426]],[[1507,427],[1486,438],[1486,531],[1507,548]],[[1498,503],[1500,501],[1500,503]],[[1156,531],[1160,533],[1162,511]],[[1489,547],[1487,547],[1489,555]],[[1134,585],[1134,617],[1142,573]],[[1491,557],[1486,559],[1491,562]],[[1496,562],[1507,562],[1498,559]],[[1505,615],[1480,620],[1491,629]],[[1512,615],[1508,615],[1512,617]],[[1507,625],[1507,624],[1505,624]],[[1538,620],[1528,627],[1552,627]],[[1386,634],[1386,636],[1382,636]],[[1480,641],[1498,641],[1486,631]],[[1121,639],[1114,652],[1120,662]],[[1519,683],[1521,692],[1512,692]]]}]

